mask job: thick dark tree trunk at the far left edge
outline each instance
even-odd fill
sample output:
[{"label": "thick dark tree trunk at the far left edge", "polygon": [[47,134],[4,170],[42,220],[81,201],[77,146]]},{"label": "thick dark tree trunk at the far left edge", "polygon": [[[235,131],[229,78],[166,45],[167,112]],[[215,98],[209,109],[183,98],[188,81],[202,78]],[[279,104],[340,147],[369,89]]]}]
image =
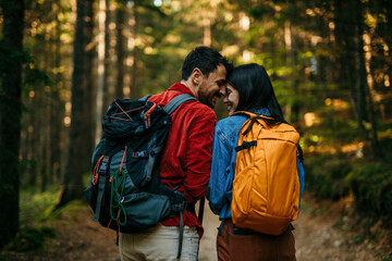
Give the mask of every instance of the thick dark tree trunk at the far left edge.
[{"label": "thick dark tree trunk at the far left edge", "polygon": [[19,231],[19,151],[21,142],[21,83],[23,51],[23,0],[1,1],[3,32],[0,91],[0,248]]}]

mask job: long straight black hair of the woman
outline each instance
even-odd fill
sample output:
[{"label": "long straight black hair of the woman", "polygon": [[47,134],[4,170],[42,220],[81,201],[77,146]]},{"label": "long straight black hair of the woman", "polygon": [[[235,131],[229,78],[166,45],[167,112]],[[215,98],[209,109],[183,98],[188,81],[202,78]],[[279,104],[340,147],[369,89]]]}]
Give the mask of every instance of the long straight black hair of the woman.
[{"label": "long straight black hair of the woman", "polygon": [[254,112],[257,109],[267,108],[273,119],[272,124],[286,122],[274,95],[271,79],[264,66],[257,63],[236,66],[228,76],[226,82],[240,94],[235,111]]}]

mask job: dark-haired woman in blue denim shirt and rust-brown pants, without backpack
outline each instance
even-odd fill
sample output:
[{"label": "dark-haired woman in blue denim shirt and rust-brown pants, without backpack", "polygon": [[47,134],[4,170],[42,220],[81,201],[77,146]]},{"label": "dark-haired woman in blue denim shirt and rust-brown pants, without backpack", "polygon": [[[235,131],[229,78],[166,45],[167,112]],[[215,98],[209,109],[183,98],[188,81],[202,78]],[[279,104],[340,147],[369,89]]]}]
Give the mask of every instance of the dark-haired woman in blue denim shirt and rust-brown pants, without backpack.
[{"label": "dark-haired woman in blue denim shirt and rust-brown pants, without backpack", "polygon": [[[268,124],[285,123],[266,70],[250,63],[235,67],[226,79],[225,98],[229,115],[248,111],[272,117]],[[219,260],[296,260],[295,241],[290,225],[273,236],[234,227],[231,219],[232,186],[235,170],[235,147],[245,115],[232,115],[217,123],[212,146],[211,175],[207,199],[222,221],[217,237]],[[299,199],[304,189],[304,169],[297,160]],[[301,203],[301,202],[299,202]]]}]

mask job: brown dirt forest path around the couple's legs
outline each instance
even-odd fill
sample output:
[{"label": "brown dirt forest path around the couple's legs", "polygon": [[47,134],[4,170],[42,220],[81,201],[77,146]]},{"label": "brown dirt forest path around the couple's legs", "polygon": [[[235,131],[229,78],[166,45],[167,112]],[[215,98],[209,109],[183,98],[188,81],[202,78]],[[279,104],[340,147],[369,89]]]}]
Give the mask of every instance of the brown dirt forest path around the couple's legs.
[{"label": "brown dirt forest path around the couple's legs", "polygon": [[[373,236],[364,236],[363,222],[355,217],[350,201],[317,201],[305,195],[299,217],[294,222],[298,261],[314,260],[392,260],[391,232],[379,223],[368,227]],[[206,204],[207,206],[207,204]],[[70,208],[45,225],[57,232],[46,239],[39,252],[16,252],[5,248],[0,261],[9,260],[83,260],[119,261],[115,233],[91,221],[86,204]],[[205,235],[200,243],[199,261],[215,261],[218,217],[205,209]],[[8,250],[7,250],[8,249]]]}]

